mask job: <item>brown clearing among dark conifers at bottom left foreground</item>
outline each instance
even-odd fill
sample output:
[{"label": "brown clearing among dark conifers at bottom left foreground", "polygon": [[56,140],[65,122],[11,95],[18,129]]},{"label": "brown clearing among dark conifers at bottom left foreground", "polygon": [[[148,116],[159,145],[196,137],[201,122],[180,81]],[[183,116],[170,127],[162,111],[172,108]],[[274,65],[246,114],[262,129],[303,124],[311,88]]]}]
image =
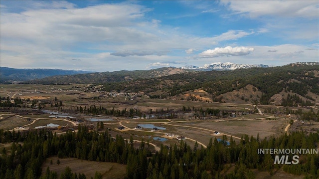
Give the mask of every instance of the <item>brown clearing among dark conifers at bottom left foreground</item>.
[{"label": "brown clearing among dark conifers at bottom left foreground", "polygon": [[[109,163],[109,162],[92,162],[79,160],[74,158],[59,159],[60,165],[56,164],[57,157],[51,157],[46,160],[42,166],[42,174],[45,173],[46,168],[49,167],[50,171],[57,172],[58,176],[69,166],[72,173],[83,173],[87,179],[94,177],[95,172],[100,172],[103,179],[124,179],[126,176],[126,165]],[[52,160],[53,164],[50,164]]]}]

